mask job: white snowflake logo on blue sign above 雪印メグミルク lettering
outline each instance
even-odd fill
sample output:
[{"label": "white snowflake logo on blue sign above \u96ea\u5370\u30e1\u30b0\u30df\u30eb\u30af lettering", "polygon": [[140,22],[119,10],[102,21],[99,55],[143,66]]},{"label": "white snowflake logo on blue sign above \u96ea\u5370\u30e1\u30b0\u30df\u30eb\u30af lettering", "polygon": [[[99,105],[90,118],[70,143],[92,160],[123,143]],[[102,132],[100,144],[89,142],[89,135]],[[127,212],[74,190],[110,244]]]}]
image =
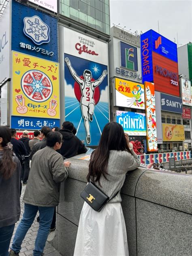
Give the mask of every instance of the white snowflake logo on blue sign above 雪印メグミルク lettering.
[{"label": "white snowflake logo on blue sign above \u96ea\u5370\u30e1\u30b0\u30df\u30eb\u30af lettering", "polygon": [[43,43],[49,43],[49,31],[50,28],[44,23],[40,17],[25,17],[23,19],[24,28],[23,32],[28,36],[36,45]]}]

